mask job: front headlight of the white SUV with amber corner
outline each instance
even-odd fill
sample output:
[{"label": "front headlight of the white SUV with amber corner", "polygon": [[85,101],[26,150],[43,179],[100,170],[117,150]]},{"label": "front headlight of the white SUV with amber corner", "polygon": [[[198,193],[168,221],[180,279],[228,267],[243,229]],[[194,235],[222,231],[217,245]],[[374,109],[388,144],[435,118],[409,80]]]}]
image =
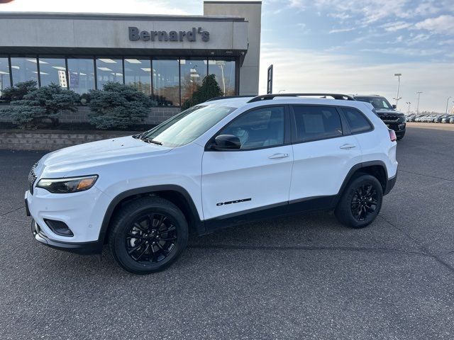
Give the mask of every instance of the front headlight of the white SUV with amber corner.
[{"label": "front headlight of the white SUV with amber corner", "polygon": [[36,188],[43,188],[50,193],[77,193],[94,186],[98,175],[68,177],[66,179],[40,179]]}]

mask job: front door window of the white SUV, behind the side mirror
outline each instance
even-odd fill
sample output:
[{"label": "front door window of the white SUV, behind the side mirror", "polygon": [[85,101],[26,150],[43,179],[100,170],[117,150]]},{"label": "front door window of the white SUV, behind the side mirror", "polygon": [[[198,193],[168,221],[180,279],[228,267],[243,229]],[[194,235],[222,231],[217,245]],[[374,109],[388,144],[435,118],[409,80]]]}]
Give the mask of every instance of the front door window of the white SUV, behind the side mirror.
[{"label": "front door window of the white SUV, behind the side mirror", "polygon": [[218,135],[234,135],[240,149],[259,149],[284,144],[284,107],[258,108],[240,115]]}]

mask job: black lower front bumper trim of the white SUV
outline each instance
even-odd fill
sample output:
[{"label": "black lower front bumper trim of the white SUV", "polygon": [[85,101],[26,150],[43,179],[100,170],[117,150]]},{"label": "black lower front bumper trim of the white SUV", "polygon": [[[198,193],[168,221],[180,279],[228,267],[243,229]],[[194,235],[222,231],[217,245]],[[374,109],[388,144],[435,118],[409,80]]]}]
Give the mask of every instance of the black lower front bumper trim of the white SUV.
[{"label": "black lower front bumper trim of the white SUV", "polygon": [[102,242],[94,241],[94,242],[60,242],[49,239],[43,230],[41,230],[38,223],[35,220],[31,222],[31,232],[33,237],[35,237],[36,241],[40,242],[41,244],[45,244],[46,246],[50,246],[54,249],[59,249],[63,251],[70,251],[72,253],[80,254],[80,255],[93,255],[93,254],[101,254],[102,251]]}]

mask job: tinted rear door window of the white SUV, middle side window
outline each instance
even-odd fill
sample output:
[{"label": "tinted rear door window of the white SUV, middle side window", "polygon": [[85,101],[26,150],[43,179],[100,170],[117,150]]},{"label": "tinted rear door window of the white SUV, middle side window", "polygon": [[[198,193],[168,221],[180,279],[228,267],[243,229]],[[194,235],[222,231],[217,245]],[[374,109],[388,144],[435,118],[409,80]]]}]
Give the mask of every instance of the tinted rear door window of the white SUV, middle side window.
[{"label": "tinted rear door window of the white SUV, middle side window", "polygon": [[330,106],[293,106],[297,125],[296,142],[341,137],[342,125],[336,108]]}]

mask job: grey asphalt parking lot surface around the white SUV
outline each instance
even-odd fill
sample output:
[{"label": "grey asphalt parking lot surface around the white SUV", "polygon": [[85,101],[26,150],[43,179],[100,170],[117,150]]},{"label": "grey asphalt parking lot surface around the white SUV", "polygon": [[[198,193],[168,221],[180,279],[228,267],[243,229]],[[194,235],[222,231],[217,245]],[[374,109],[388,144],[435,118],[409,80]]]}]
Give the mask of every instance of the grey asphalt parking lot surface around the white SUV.
[{"label": "grey asphalt parking lot surface around the white SUV", "polygon": [[0,151],[0,339],[454,339],[454,125],[409,124],[382,212],[310,212],[194,237],[150,276],[35,242],[43,152]]}]

